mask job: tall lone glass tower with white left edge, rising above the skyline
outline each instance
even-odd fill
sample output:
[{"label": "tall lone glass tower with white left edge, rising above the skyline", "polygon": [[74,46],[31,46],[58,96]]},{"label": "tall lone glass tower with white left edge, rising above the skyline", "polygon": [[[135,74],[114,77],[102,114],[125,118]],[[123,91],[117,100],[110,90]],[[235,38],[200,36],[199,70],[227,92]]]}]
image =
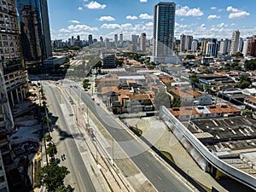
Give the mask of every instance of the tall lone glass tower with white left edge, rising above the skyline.
[{"label": "tall lone glass tower with white left edge, rising above the skyline", "polygon": [[160,2],[154,6],[153,59],[166,61],[173,55],[175,3]]}]

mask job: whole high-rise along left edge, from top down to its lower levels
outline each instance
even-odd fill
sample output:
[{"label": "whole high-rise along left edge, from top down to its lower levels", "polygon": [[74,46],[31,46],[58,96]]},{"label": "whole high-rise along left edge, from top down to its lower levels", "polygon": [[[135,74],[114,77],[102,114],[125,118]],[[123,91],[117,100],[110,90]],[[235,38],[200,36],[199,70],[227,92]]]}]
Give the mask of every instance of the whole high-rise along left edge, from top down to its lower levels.
[{"label": "whole high-rise along left edge, from top down to its lower levels", "polygon": [[21,56],[15,0],[0,1],[0,8],[0,190],[9,191],[2,183],[6,179],[3,166],[11,168],[13,163],[9,134],[15,127],[10,108],[26,98],[27,74]]}]

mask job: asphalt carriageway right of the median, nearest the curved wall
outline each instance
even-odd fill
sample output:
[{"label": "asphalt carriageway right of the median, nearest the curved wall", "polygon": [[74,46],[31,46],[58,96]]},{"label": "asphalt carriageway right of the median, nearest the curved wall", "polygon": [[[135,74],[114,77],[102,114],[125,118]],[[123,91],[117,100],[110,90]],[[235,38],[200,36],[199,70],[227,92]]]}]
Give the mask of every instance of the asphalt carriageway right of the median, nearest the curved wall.
[{"label": "asphalt carriageway right of the median, nearest the curved wall", "polygon": [[188,186],[181,182],[159,160],[154,158],[141,141],[135,139],[112,115],[107,113],[91,99],[88,93],[78,88],[72,88],[73,92],[80,96],[81,101],[90,109],[102,125],[108,130],[113,139],[131,158],[134,164],[148,178],[150,183],[158,191],[191,191]]}]

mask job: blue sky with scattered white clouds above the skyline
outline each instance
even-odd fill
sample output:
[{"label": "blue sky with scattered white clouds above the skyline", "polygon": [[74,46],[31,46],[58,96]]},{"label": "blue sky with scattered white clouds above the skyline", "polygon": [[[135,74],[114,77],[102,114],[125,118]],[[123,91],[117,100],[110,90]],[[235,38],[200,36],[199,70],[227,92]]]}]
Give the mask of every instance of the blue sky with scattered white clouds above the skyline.
[{"label": "blue sky with scattered white clouds above the skyline", "polygon": [[[113,38],[145,32],[152,38],[156,0],[48,0],[52,40]],[[173,1],[165,1],[173,2]],[[183,33],[194,38],[241,38],[256,34],[255,0],[176,0],[175,37]]]}]

